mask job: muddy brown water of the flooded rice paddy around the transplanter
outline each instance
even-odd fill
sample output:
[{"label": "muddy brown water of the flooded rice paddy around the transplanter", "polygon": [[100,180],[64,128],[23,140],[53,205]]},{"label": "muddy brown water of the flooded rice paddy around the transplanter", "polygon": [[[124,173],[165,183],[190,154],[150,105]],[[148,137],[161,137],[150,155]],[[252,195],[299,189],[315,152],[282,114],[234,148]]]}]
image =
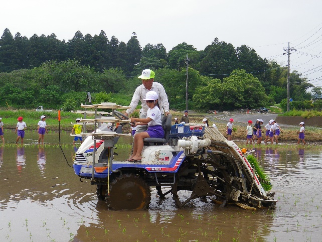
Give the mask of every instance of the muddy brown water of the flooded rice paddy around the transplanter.
[{"label": "muddy brown water of the flooded rice paddy around the transplanter", "polygon": [[[45,136],[44,148],[31,145],[32,136],[21,147],[6,134],[9,144],[0,148],[1,241],[321,241],[321,151],[254,153],[272,180],[274,211],[200,199],[177,209],[170,195],[160,200],[154,189],[148,210],[111,211],[97,201],[96,187],[79,181],[60,148],[48,145],[57,144],[57,134]],[[71,140],[62,135],[70,164],[75,151],[64,144]],[[118,149],[120,159],[126,152]]]}]

